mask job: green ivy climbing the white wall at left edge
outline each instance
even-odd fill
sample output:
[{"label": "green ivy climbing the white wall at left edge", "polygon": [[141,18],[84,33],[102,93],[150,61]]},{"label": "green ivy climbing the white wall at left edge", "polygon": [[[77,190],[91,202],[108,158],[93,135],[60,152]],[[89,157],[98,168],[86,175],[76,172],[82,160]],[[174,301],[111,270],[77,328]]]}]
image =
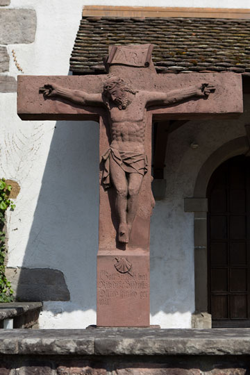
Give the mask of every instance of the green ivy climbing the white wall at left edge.
[{"label": "green ivy climbing the white wall at left edge", "polygon": [[6,210],[14,210],[15,204],[9,199],[11,185],[7,185],[4,178],[0,179],[0,302],[12,302],[13,290],[6,278],[4,258],[6,256]]}]

